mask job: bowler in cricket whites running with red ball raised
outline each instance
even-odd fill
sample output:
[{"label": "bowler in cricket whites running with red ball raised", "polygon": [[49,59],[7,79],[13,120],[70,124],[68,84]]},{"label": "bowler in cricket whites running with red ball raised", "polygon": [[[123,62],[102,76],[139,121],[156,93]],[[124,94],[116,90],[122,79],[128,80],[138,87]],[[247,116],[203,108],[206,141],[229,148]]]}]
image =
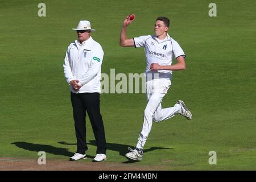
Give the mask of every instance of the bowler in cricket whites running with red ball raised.
[{"label": "bowler in cricket whites running with red ball raised", "polygon": [[[139,134],[138,143],[133,150],[128,147],[125,156],[133,160],[142,160],[143,147],[150,133],[152,122],[160,122],[170,119],[177,114],[191,120],[192,114],[183,101],[179,100],[173,107],[162,108],[161,102],[171,86],[172,71],[184,70],[185,53],[171,36],[168,34],[170,20],[166,17],[158,17],[155,22],[155,35],[139,36],[128,39],[126,36],[127,26],[135,20],[131,14],[123,21],[120,46],[122,47],[143,47],[146,55],[146,96],[147,106],[144,110],[144,122],[142,131]],[[172,64],[175,57],[176,64]]]}]

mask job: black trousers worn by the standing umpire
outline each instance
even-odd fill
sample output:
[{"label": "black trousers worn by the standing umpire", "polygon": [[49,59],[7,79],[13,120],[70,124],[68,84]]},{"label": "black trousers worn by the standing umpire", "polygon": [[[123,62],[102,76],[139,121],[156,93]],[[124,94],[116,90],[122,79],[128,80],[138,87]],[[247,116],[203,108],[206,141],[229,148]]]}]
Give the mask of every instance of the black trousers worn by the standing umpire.
[{"label": "black trousers worn by the standing umpire", "polygon": [[75,121],[77,153],[85,154],[88,149],[86,145],[85,115],[88,113],[92,125],[93,134],[96,139],[96,154],[106,154],[106,138],[104,124],[100,113],[99,93],[72,93],[71,102],[73,106],[73,117]]}]

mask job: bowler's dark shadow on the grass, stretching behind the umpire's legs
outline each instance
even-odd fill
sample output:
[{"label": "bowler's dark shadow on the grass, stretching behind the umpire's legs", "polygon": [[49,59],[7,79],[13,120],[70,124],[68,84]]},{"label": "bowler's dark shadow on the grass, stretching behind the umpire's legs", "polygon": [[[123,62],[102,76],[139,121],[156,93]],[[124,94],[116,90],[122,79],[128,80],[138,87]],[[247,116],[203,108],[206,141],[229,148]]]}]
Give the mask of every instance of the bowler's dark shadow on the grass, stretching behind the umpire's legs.
[{"label": "bowler's dark shadow on the grass, stretching behind the umpire's legs", "polygon": [[[58,142],[60,144],[65,144],[65,145],[76,145],[76,143],[67,143],[67,142]],[[96,141],[95,140],[90,140],[89,143],[87,144],[91,144],[93,146],[96,146]],[[107,143],[107,150],[112,150],[112,151],[117,151],[119,152],[119,155],[121,156],[125,156],[125,154],[127,152],[129,152],[127,150],[127,148],[130,147],[127,144],[119,144],[119,143]],[[134,147],[135,148],[135,147]],[[151,148],[147,148],[143,150],[143,153],[146,152],[150,152],[150,151],[154,151],[154,150],[162,150],[162,149],[174,149],[174,148],[166,148],[166,147],[151,147]],[[127,160],[126,162],[122,162],[122,163],[136,163],[138,162],[137,160]]]}]

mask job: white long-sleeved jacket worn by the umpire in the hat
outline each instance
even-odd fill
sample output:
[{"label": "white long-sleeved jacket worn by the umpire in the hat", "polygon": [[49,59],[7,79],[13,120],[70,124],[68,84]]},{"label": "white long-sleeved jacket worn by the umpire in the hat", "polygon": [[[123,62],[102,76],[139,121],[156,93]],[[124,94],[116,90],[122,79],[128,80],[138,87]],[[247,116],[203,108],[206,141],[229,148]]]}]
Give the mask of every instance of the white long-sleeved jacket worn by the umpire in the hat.
[{"label": "white long-sleeved jacket worn by the umpire in the hat", "polygon": [[69,90],[73,93],[100,93],[101,92],[101,64],[104,52],[99,43],[90,37],[80,43],[75,40],[68,46],[64,59],[64,75],[69,83],[79,80],[82,87],[75,91],[71,85]]}]

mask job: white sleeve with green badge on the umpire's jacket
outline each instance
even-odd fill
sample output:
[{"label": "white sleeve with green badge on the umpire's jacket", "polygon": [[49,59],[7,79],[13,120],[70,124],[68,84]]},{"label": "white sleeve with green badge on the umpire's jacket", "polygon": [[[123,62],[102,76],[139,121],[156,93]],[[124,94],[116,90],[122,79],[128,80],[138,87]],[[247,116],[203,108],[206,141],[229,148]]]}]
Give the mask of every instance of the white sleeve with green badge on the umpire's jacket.
[{"label": "white sleeve with green badge on the umpire's jacket", "polygon": [[82,75],[78,80],[82,85],[87,84],[89,81],[91,81],[96,75],[101,71],[101,64],[103,61],[104,52],[102,50],[102,47],[98,45],[94,50],[92,51],[92,60],[90,67],[84,75]]}]

